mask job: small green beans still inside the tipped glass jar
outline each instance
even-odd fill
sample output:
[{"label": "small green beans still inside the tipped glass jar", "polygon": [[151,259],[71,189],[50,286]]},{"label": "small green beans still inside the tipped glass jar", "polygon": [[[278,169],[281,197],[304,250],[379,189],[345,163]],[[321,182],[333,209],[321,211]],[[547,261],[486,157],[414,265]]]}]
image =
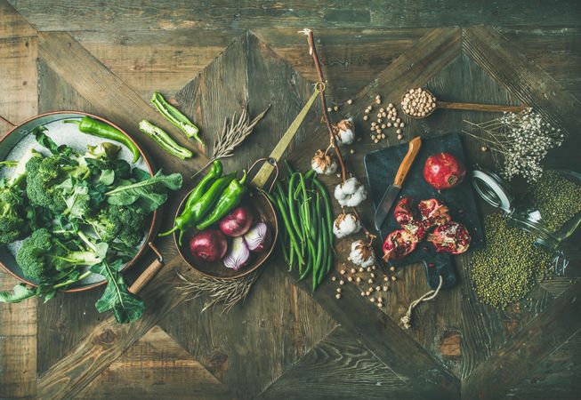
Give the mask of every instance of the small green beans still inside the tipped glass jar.
[{"label": "small green beans still inside the tipped glass jar", "polygon": [[545,172],[525,196],[541,213],[545,228],[551,232],[581,212],[581,185],[557,171]]}]

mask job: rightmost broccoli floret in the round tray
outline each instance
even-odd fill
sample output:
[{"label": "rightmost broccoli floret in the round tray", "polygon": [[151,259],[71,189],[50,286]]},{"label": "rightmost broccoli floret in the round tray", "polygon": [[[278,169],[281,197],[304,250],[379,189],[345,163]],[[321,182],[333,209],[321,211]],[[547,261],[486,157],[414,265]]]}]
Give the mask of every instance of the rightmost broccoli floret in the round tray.
[{"label": "rightmost broccoli floret in the round tray", "polygon": [[140,244],[145,227],[145,212],[136,205],[111,205],[101,210],[93,219],[87,220],[103,242],[118,239],[129,247]]}]

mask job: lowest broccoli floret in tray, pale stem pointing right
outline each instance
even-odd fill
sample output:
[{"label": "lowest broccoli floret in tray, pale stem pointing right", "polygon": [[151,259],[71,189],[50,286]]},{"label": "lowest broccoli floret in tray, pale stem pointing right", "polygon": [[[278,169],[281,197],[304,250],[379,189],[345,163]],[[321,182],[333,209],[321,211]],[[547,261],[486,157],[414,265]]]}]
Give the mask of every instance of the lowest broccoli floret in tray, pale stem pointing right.
[{"label": "lowest broccoli floret in tray, pale stem pointing right", "polygon": [[75,266],[92,266],[102,260],[93,251],[70,250],[46,228],[37,229],[22,243],[16,262],[25,276],[42,279]]}]

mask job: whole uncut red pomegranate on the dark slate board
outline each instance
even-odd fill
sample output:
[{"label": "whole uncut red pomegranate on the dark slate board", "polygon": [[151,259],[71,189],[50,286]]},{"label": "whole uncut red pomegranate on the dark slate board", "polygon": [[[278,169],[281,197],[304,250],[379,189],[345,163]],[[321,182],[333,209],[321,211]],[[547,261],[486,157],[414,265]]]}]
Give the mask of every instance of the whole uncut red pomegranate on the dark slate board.
[{"label": "whole uncut red pomegranate on the dark slate board", "polygon": [[464,164],[449,153],[438,153],[425,160],[424,180],[432,185],[432,188],[438,190],[454,188],[462,183],[465,175]]}]

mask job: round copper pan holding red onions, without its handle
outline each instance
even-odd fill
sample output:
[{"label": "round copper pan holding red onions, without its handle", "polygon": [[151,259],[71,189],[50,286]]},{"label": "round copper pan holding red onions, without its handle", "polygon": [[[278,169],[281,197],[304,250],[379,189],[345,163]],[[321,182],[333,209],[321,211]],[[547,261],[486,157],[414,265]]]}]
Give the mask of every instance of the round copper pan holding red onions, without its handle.
[{"label": "round copper pan holding red onions, without its handle", "polygon": [[[192,189],[193,190],[193,189]],[[190,191],[191,193],[191,191]],[[182,200],[180,207],[178,208],[175,216],[177,217],[182,213],[183,206],[186,202],[188,193]],[[175,246],[180,252],[182,259],[191,267],[198,271],[200,274],[204,276],[208,276],[211,278],[219,278],[219,279],[237,279],[242,276],[246,276],[248,274],[252,274],[255,270],[260,268],[264,261],[268,260],[270,253],[274,249],[275,244],[277,243],[278,238],[278,220],[277,220],[277,213],[274,211],[274,207],[270,204],[270,200],[261,190],[252,189],[250,191],[250,195],[246,196],[243,204],[248,206],[253,214],[254,214],[254,223],[256,222],[263,222],[265,223],[269,230],[270,230],[270,246],[268,249],[264,249],[262,252],[257,252],[251,254],[251,257],[254,257],[250,264],[246,265],[243,268],[240,268],[238,271],[235,271],[231,268],[226,268],[222,262],[222,260],[218,260],[215,262],[200,262],[198,260],[194,260],[190,253],[190,239],[192,236],[198,233],[197,230],[191,229],[190,231],[186,232],[183,236],[182,245],[179,244],[178,237],[179,232],[173,233],[173,240],[175,242]],[[228,238],[229,245],[231,243],[231,238]]]}]

